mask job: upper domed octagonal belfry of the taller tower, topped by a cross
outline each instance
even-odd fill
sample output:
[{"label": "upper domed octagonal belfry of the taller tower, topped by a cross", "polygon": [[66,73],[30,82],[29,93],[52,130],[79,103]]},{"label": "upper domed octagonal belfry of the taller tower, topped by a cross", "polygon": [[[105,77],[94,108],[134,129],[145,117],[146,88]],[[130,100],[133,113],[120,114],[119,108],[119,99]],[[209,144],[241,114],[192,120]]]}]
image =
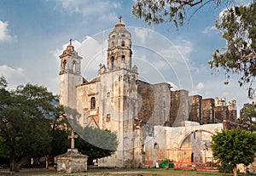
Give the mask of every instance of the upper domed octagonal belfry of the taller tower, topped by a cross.
[{"label": "upper domed octagonal belfry of the taller tower, topped by a cross", "polygon": [[125,29],[122,17],[108,36],[108,71],[124,67],[131,71],[131,33]]}]

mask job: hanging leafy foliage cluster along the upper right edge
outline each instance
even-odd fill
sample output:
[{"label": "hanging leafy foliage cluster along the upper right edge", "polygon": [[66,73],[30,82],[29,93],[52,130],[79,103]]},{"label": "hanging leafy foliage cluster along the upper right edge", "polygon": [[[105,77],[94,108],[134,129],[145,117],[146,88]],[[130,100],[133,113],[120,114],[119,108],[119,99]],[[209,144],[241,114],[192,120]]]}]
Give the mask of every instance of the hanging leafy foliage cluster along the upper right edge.
[{"label": "hanging leafy foliage cluster along the upper right edge", "polygon": [[[229,79],[238,74],[239,85],[248,84],[248,97],[253,99],[256,76],[256,1],[247,6],[226,9],[216,27],[226,40],[226,48],[212,54],[211,68],[221,67]],[[228,83],[228,82],[225,82]]]}]

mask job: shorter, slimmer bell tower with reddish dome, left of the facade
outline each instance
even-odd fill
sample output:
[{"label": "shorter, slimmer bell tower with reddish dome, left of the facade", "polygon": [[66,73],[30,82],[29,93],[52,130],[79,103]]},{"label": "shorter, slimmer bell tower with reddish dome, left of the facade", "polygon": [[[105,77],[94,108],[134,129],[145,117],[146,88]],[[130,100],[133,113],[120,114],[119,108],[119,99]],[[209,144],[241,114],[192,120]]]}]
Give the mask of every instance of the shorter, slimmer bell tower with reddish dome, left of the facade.
[{"label": "shorter, slimmer bell tower with reddish dome, left of the facade", "polygon": [[82,57],[74,50],[72,39],[60,59],[60,104],[76,109],[76,86],[83,82],[80,71]]}]

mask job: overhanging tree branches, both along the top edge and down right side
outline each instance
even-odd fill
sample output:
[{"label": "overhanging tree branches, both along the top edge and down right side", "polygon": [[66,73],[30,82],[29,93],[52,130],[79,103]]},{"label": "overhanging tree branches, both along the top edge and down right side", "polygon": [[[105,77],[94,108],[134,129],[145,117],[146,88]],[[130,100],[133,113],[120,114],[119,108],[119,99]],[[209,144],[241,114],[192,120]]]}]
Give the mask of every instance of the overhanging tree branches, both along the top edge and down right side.
[{"label": "overhanging tree branches, both along the top edge and down right side", "polygon": [[148,25],[170,23],[183,26],[189,9],[199,9],[209,3],[216,7],[229,7],[217,20],[216,27],[226,40],[227,47],[216,49],[209,62],[212,69],[224,69],[229,83],[230,74],[238,74],[240,86],[248,85],[248,98],[253,99],[256,89],[253,81],[256,76],[256,2],[247,6],[237,6],[238,0],[137,0],[132,14],[143,19]]}]

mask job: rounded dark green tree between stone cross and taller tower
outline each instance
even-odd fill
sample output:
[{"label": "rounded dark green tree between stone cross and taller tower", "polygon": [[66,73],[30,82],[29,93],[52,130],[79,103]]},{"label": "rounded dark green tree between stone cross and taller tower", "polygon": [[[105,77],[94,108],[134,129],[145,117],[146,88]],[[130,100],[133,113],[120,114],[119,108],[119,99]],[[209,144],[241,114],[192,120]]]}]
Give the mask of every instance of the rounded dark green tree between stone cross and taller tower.
[{"label": "rounded dark green tree between stone cross and taller tower", "polygon": [[83,139],[79,138],[77,148],[91,158],[111,156],[118,147],[117,134],[100,128],[85,127]]}]

